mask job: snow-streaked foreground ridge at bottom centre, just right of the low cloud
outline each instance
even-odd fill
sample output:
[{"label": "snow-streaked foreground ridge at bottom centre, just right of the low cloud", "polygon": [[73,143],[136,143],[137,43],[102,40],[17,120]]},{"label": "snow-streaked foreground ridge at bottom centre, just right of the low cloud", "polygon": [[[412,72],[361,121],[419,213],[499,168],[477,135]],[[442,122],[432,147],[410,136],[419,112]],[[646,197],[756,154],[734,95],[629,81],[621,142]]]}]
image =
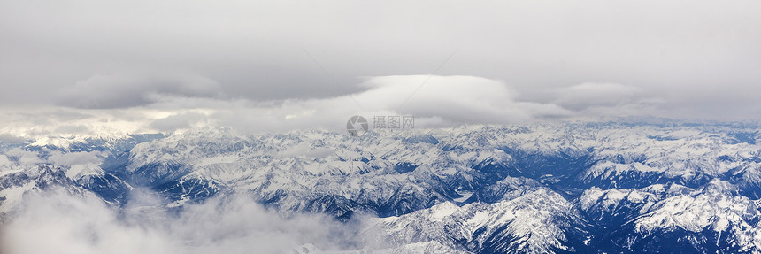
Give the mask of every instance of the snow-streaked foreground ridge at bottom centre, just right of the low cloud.
[{"label": "snow-streaked foreground ridge at bottom centre, just right of the low cloud", "polygon": [[573,246],[579,246],[581,239],[573,237],[584,234],[583,225],[573,204],[557,193],[537,189],[495,204],[437,204],[378,219],[368,231],[383,232],[380,241],[387,244],[436,241],[474,252],[547,253],[579,251]]}]

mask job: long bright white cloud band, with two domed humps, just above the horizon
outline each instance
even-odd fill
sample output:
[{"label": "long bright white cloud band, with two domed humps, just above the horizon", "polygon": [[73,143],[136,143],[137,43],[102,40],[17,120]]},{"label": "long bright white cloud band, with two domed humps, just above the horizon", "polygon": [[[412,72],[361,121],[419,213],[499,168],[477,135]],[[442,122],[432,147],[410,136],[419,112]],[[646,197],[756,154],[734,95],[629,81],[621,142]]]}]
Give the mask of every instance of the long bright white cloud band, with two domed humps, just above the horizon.
[{"label": "long bright white cloud band, with two domed humps, just above the horizon", "polygon": [[[510,124],[546,119],[657,115],[662,99],[642,88],[583,83],[548,89],[534,101],[503,81],[473,76],[405,75],[365,78],[361,92],[313,99],[257,102],[222,97],[153,94],[150,104],[127,109],[8,111],[10,136],[51,142],[48,137],[169,133],[194,127],[233,127],[243,133],[303,128],[343,131],[362,115],[412,116],[415,127]],[[54,138],[53,138],[54,139]]]}]

